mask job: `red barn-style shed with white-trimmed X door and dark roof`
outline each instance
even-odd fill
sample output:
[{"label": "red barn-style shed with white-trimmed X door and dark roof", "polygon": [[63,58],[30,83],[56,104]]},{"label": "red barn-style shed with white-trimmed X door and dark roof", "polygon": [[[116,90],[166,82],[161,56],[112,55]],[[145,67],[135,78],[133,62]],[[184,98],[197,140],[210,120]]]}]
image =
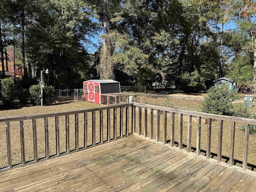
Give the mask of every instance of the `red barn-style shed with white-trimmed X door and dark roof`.
[{"label": "red barn-style shed with white-trimmed X door and dark roof", "polygon": [[84,81],[84,97],[86,101],[101,103],[100,94],[121,92],[120,82],[114,80]]}]

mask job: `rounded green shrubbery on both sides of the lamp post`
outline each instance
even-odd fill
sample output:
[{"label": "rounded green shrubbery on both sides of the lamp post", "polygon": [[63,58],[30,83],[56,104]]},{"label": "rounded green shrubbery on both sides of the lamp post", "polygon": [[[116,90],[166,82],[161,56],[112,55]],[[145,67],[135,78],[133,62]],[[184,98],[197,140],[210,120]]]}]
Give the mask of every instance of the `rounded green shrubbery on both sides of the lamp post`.
[{"label": "rounded green shrubbery on both sides of the lamp post", "polygon": [[[32,85],[29,88],[29,93],[32,99],[32,104],[41,105],[41,98],[39,95],[41,94],[40,85]],[[54,87],[53,86],[45,86],[43,88],[43,104],[46,103],[52,104],[54,101]]]}]

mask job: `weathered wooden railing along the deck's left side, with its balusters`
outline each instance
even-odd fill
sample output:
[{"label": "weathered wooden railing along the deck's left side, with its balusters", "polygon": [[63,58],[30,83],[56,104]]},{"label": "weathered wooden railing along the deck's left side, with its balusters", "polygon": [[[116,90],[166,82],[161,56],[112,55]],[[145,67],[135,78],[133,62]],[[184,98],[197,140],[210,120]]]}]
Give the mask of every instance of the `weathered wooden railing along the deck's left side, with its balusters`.
[{"label": "weathered wooden railing along the deck's left side, with its balusters", "polygon": [[[24,137],[24,121],[25,120],[31,120],[32,125],[26,124],[26,126],[32,126],[33,130],[33,148],[34,148],[34,161],[40,160],[38,158],[38,133],[37,133],[37,120],[43,119],[44,120],[44,136],[45,136],[45,157],[44,158],[50,158],[50,141],[49,141],[49,118],[54,117],[55,118],[55,136],[56,136],[56,154],[53,156],[59,156],[62,154],[60,152],[60,124],[65,125],[65,142],[66,142],[66,152],[69,153],[71,151],[70,149],[70,141],[75,141],[75,150],[81,150],[84,148],[88,148],[88,113],[92,114],[91,118],[91,132],[92,132],[92,146],[95,146],[97,144],[102,144],[103,142],[110,141],[113,139],[117,139],[118,137],[122,137],[123,133],[122,131],[119,132],[119,135],[117,135],[117,127],[119,126],[119,130],[123,129],[123,123],[125,123],[126,132],[125,135],[132,133],[132,128],[129,127],[129,108],[131,108],[132,104],[126,103],[126,104],[118,104],[114,106],[106,106],[106,107],[98,107],[98,108],[89,108],[84,110],[74,110],[74,111],[67,111],[67,112],[57,112],[57,113],[49,113],[49,114],[37,114],[37,115],[28,115],[28,116],[14,116],[14,117],[4,117],[0,118],[0,126],[6,127],[6,148],[7,148],[7,162],[8,167],[2,167],[3,168],[11,168],[13,166],[19,166],[24,165],[28,163],[28,160],[26,160],[26,146],[25,146],[25,137]],[[123,109],[125,109],[125,116],[126,119],[123,120]],[[106,122],[103,121],[103,112],[106,110]],[[120,124],[117,124],[117,111],[121,112],[121,115],[118,116],[118,121]],[[96,112],[99,112],[99,117],[96,117]],[[113,120],[112,120],[112,128],[110,127],[111,122],[111,116],[110,114],[113,114]],[[70,138],[70,116],[74,115],[74,132],[75,136],[74,138]],[[60,117],[64,117],[64,122],[60,122]],[[80,118],[82,119],[82,122],[79,121]],[[97,120],[96,120],[97,118]],[[21,143],[21,162],[18,164],[13,165],[12,164],[12,146],[15,146],[16,143],[11,142],[11,124],[17,124],[19,123],[20,127],[20,143]],[[99,129],[96,127],[96,122],[99,122]],[[79,148],[80,144],[80,129],[83,128],[83,147]],[[99,132],[99,142],[96,141],[96,129]],[[104,129],[106,130],[106,140],[104,140]],[[129,132],[130,130],[130,132]],[[111,135],[113,134],[113,137]],[[79,139],[80,138],[80,139]],[[3,156],[1,158],[4,158]]]}]

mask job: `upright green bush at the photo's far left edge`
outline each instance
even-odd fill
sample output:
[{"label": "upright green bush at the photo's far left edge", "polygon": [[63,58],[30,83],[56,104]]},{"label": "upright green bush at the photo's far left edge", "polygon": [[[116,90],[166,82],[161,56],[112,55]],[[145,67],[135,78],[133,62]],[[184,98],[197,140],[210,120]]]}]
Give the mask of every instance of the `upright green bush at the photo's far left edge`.
[{"label": "upright green bush at the photo's far left edge", "polygon": [[12,103],[15,86],[14,86],[14,80],[5,78],[1,80],[1,91],[2,91],[2,97],[4,98],[5,104]]}]

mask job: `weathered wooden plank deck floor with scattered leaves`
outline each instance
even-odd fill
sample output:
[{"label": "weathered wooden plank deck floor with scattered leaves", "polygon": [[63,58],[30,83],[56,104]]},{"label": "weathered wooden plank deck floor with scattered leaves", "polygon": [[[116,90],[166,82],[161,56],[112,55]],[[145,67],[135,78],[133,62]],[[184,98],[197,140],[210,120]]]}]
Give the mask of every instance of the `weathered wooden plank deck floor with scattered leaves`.
[{"label": "weathered wooden plank deck floor with scattered leaves", "polygon": [[254,191],[254,176],[130,135],[6,170],[5,191]]}]

